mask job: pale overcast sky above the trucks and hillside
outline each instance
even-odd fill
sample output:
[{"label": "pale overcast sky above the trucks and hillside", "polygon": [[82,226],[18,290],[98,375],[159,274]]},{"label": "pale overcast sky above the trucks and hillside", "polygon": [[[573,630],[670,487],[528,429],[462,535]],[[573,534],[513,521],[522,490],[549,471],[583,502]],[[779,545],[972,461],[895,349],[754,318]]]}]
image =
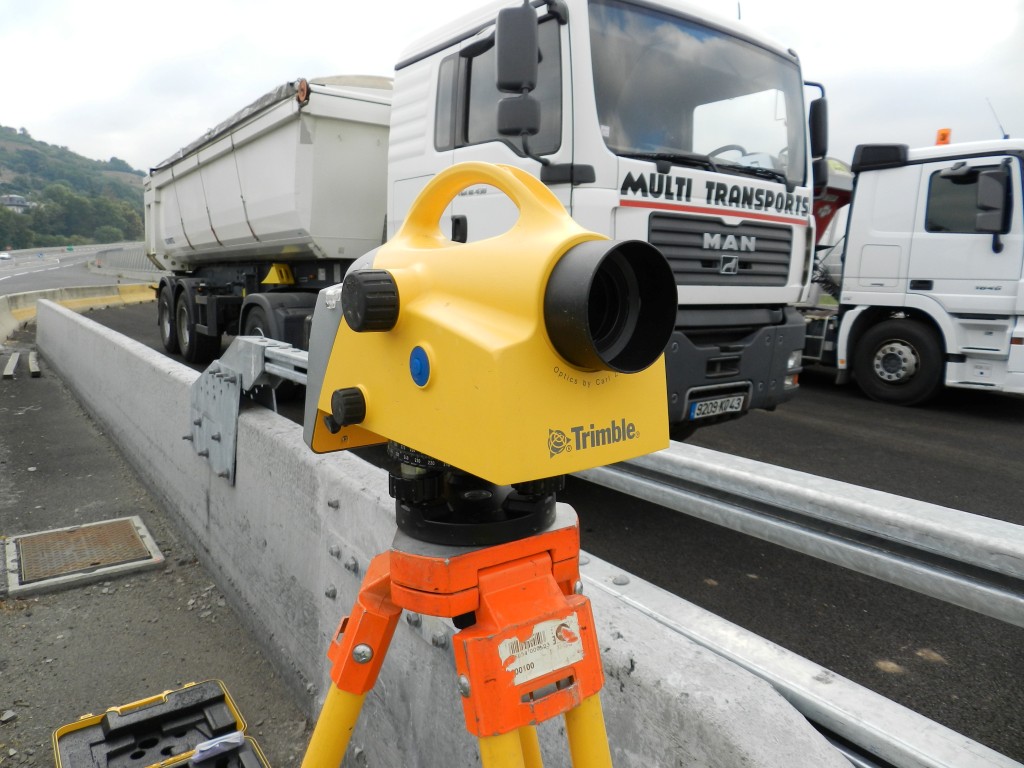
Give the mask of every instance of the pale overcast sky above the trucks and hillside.
[{"label": "pale overcast sky above the trucks and hillside", "polygon": [[[1024,137],[1024,0],[695,0],[795,49],[830,152]],[[147,170],[298,77],[391,75],[478,0],[0,0],[0,125]],[[989,105],[991,104],[991,106]],[[996,117],[998,116],[998,122]]]}]

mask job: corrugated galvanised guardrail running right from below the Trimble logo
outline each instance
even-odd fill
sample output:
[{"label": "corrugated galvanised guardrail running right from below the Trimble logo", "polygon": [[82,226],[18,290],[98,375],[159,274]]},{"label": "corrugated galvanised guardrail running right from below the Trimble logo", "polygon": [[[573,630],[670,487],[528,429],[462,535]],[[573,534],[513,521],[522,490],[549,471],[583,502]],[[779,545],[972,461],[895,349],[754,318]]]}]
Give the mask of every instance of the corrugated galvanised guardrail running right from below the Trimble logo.
[{"label": "corrugated galvanised guardrail running right from below the Trimble logo", "polygon": [[1024,627],[1024,526],[680,443],[579,476]]}]

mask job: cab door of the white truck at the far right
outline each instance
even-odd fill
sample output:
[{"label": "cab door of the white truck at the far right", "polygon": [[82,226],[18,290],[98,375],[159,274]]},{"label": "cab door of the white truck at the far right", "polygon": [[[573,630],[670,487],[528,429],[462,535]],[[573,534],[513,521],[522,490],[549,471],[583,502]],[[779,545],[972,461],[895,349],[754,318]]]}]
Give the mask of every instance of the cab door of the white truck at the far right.
[{"label": "cab door of the white truck at the far right", "polygon": [[[1004,169],[1006,200],[998,233],[980,231],[978,180]],[[910,246],[908,299],[931,297],[955,313],[1013,314],[1020,290],[1024,231],[1020,167],[999,157],[929,164]]]}]

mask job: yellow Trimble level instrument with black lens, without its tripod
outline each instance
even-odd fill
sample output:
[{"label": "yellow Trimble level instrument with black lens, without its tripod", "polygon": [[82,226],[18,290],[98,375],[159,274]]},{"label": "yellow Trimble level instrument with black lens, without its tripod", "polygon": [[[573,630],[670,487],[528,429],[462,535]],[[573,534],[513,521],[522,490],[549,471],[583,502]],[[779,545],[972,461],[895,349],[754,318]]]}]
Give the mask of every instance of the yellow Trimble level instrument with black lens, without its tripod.
[{"label": "yellow Trimble level instrument with black lens, without its tripod", "polygon": [[[475,184],[519,218],[452,242],[440,217]],[[524,171],[454,166],[393,240],[321,293],[304,439],[317,453],[392,440],[498,484],[664,449],[676,301],[653,246],[583,229]]]}]

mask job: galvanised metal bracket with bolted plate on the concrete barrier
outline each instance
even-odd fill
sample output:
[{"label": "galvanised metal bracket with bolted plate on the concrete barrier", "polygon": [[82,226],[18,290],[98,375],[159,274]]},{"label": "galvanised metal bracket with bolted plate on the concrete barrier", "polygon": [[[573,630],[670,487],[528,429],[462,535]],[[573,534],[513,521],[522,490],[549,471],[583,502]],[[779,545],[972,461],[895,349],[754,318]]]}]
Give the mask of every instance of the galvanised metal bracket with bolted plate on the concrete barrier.
[{"label": "galvanised metal bracket with bolted plate on the concrete barrier", "polygon": [[308,355],[262,336],[239,336],[191,386],[191,428],[185,439],[218,477],[234,484],[239,406],[243,394],[278,410],[274,390],[285,381],[305,386]]}]

